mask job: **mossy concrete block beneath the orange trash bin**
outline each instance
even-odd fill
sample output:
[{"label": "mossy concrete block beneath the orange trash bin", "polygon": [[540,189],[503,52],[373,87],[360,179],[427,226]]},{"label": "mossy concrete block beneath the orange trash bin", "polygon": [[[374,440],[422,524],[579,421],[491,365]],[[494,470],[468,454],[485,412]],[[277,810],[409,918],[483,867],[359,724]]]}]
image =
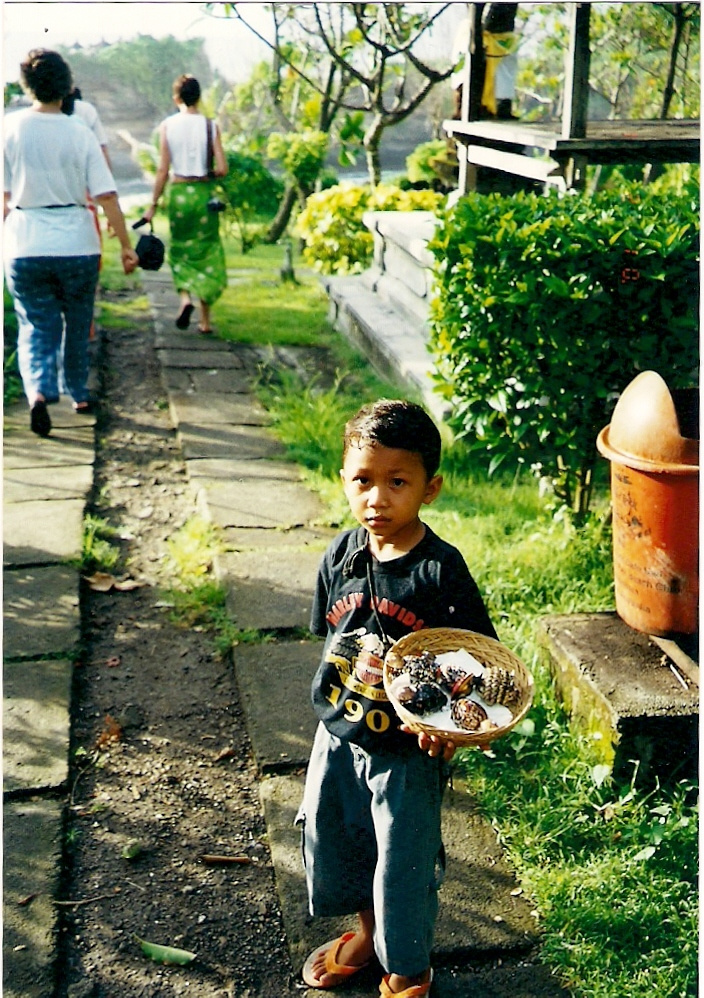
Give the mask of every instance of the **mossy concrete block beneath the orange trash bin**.
[{"label": "mossy concrete block beneath the orange trash bin", "polygon": [[538,640],[575,725],[618,779],[694,775],[699,690],[615,613],[544,617]]}]

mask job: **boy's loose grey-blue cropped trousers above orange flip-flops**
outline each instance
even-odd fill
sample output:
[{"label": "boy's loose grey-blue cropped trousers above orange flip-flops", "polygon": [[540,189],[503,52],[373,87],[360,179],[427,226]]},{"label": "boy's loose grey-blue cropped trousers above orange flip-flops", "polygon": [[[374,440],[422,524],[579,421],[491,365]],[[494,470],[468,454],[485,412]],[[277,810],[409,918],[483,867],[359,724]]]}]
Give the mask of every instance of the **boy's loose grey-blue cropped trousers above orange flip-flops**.
[{"label": "boy's loose grey-blue cropped trousers above orange flip-flops", "polygon": [[296,816],[310,913],[373,908],[374,948],[387,973],[412,977],[430,965],[447,772],[420,749],[407,758],[370,755],[318,725]]}]

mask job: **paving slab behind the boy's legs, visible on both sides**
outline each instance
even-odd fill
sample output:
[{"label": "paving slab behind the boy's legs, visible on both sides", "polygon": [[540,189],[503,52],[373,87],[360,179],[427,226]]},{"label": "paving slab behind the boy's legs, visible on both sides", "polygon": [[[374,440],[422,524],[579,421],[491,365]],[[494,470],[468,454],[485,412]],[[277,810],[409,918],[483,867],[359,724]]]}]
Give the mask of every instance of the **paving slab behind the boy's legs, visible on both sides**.
[{"label": "paving slab behind the boy's legs, visible on both sides", "polygon": [[[260,785],[284,928],[296,969],[315,945],[354,926],[354,917],[313,920],[308,915],[300,831],[294,824],[303,784],[303,775],[295,774],[270,776]],[[517,889],[516,881],[496,833],[479,817],[464,789],[446,792],[443,840],[447,869],[439,894],[435,956],[450,962],[497,950],[504,955],[528,951],[538,938],[531,906],[511,893]]]}]

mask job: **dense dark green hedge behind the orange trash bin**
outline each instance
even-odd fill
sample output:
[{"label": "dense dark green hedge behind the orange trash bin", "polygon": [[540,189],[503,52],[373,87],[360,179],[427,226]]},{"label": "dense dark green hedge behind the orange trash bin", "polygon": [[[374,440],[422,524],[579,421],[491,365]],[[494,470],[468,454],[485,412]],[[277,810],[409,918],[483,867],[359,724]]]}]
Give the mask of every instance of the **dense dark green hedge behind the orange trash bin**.
[{"label": "dense dark green hedge behind the orange trash bin", "polygon": [[430,244],[432,347],[471,448],[527,463],[580,518],[595,439],[642,370],[696,384],[698,189],[470,194]]}]

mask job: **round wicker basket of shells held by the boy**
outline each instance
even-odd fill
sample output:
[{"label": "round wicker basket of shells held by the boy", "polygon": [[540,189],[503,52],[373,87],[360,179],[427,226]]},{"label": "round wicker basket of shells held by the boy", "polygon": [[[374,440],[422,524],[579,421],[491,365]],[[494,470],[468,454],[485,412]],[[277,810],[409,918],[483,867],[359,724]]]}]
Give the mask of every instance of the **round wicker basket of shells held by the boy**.
[{"label": "round wicker basket of shells held by the boy", "polygon": [[384,687],[404,724],[457,745],[500,738],[533,701],[533,677],[517,655],[493,638],[451,627],[414,631],[393,644]]}]

